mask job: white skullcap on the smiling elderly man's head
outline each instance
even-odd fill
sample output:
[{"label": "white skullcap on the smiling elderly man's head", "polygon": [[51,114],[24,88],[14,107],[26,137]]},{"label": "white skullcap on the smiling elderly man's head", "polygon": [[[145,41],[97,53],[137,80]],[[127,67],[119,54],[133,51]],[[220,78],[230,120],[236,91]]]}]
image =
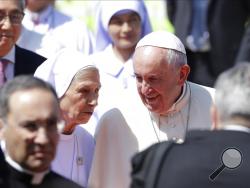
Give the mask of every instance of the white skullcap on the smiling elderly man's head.
[{"label": "white skullcap on the smiling elderly man's head", "polygon": [[167,48],[186,54],[185,47],[180,41],[180,39],[174,34],[167,31],[155,31],[149,33],[137,43],[136,48],[142,46]]}]

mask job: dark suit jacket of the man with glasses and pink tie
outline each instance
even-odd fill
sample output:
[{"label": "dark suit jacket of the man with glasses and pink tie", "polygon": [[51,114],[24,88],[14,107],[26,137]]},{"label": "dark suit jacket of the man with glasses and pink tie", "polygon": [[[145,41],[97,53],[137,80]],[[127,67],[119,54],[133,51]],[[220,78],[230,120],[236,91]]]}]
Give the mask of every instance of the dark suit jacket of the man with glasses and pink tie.
[{"label": "dark suit jacket of the man with glasses and pink tie", "polygon": [[34,52],[15,46],[15,67],[14,76],[21,74],[34,74],[37,67],[42,64],[46,58]]}]

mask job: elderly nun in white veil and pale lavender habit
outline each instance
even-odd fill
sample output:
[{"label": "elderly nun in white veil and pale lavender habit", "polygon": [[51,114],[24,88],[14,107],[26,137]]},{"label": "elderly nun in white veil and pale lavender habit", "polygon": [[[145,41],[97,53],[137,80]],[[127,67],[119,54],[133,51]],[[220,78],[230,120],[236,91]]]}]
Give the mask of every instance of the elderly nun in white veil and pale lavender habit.
[{"label": "elderly nun in white veil and pale lavender habit", "polygon": [[95,143],[78,125],[88,122],[97,105],[98,69],[80,52],[63,49],[39,66],[34,75],[54,86],[65,121],[52,169],[86,187]]}]

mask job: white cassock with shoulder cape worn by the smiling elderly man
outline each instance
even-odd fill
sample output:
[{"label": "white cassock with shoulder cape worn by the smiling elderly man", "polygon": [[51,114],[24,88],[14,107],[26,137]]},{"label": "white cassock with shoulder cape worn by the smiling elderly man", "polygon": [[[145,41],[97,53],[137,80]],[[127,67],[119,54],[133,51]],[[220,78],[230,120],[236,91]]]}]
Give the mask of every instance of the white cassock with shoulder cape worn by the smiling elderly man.
[{"label": "white cassock with shoulder cape worn by the smiling elderly man", "polygon": [[214,92],[186,82],[182,95],[165,116],[151,114],[138,94],[126,93],[121,106],[99,121],[88,187],[128,188],[130,160],[135,153],[159,141],[183,141],[190,129],[210,129]]}]

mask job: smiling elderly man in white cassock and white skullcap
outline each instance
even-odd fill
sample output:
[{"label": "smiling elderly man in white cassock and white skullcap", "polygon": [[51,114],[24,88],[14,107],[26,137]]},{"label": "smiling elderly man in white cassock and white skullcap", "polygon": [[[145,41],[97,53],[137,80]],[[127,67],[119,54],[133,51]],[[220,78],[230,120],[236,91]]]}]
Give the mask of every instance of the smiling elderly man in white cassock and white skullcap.
[{"label": "smiling elderly man in white cassock and white skullcap", "polygon": [[181,41],[166,31],[137,44],[133,66],[140,99],[127,93],[98,124],[89,187],[127,188],[131,157],[163,140],[182,143],[190,129],[210,129],[215,90],[187,81],[190,68]]}]

